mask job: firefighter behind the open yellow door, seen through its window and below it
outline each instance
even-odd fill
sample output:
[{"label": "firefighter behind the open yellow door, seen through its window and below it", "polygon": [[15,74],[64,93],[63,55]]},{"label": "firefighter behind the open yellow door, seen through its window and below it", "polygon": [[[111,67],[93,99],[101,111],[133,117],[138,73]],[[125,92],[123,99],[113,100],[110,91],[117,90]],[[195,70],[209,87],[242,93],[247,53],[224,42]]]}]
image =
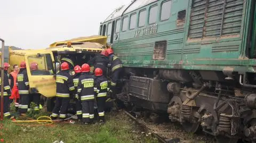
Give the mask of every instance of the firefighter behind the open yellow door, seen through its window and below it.
[{"label": "firefighter behind the open yellow door, seen through its window and below it", "polygon": [[[30,68],[31,75],[40,75],[38,73],[40,73],[41,71],[38,70],[38,64],[36,62],[31,62],[29,68]],[[40,96],[41,94],[38,94],[38,93],[29,94],[28,111],[30,111],[31,102],[34,102],[36,105],[34,107],[34,111],[39,111]]]}]

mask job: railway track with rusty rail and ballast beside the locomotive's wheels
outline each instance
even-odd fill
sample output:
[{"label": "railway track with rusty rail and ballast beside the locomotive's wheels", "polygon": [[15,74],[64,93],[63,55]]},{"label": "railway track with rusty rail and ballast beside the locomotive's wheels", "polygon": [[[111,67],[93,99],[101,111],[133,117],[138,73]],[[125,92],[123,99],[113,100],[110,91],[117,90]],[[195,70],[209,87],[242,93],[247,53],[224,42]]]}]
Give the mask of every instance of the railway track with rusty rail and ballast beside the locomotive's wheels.
[{"label": "railway track with rusty rail and ballast beside the locomotive's wheels", "polygon": [[203,132],[198,134],[188,133],[184,131],[179,124],[172,122],[154,124],[145,121],[139,117],[135,117],[133,112],[124,111],[133,121],[135,121],[141,130],[147,134],[151,134],[162,143],[214,143],[214,137]]}]

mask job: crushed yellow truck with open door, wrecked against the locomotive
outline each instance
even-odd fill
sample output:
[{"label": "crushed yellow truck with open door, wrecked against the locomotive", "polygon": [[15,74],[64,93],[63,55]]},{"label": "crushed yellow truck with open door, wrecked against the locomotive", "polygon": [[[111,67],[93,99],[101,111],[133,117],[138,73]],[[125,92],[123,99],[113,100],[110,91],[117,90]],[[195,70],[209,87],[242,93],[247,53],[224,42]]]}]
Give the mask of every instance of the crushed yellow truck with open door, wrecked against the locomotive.
[{"label": "crushed yellow truck with open door, wrecked against the locomotive", "polygon": [[[98,42],[99,43],[98,43]],[[12,50],[9,48],[9,63],[11,65],[20,64],[25,61],[31,92],[38,92],[47,98],[47,110],[51,111],[54,106],[56,94],[55,74],[60,70],[60,59],[63,56],[72,57],[76,65],[82,65],[102,51],[106,46],[107,37],[92,36],[79,37],[66,41],[55,42],[49,48]],[[71,46],[68,47],[67,43]],[[29,68],[31,62],[38,63],[36,74],[32,74]]]}]

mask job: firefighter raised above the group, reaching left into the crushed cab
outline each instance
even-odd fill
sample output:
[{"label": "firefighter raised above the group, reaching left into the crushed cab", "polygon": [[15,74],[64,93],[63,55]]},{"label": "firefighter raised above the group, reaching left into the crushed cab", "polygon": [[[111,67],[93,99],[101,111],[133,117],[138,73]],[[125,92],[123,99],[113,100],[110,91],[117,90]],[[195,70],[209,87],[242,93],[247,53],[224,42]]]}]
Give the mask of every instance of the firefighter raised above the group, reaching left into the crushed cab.
[{"label": "firefighter raised above the group, reaching left into the crushed cab", "polygon": [[89,65],[93,65],[94,69],[100,68],[103,71],[103,75],[107,75],[107,65],[109,63],[108,52],[105,50],[101,51],[100,55],[93,57],[87,62]]}]

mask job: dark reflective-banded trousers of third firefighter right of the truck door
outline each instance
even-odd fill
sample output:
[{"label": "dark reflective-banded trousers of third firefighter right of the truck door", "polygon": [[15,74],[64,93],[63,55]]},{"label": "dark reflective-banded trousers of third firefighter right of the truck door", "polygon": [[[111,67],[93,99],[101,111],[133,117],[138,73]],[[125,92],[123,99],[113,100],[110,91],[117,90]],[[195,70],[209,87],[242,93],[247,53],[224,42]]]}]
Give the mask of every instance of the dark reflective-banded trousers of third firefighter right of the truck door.
[{"label": "dark reflective-banded trousers of third firefighter right of the truck door", "polygon": [[92,123],[94,119],[94,99],[82,101],[83,122]]}]

